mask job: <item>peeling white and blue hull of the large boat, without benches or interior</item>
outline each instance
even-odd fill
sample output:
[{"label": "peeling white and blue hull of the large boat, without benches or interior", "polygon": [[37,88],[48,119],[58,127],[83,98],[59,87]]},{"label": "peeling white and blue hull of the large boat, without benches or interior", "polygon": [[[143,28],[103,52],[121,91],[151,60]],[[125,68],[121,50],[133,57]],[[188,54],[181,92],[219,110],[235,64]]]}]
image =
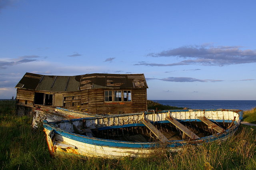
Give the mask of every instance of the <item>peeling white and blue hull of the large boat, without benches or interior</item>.
[{"label": "peeling white and blue hull of the large boat, without benches or interior", "polygon": [[[215,122],[230,122],[230,124],[234,124],[231,128],[226,129],[223,132],[219,132],[210,136],[205,136],[202,138],[197,139],[186,139],[186,140],[169,140],[166,142],[128,142],[128,141],[119,141],[119,140],[108,140],[108,139],[102,139],[102,138],[95,138],[93,136],[86,136],[82,134],[76,134],[72,131],[72,126],[68,126],[68,122],[70,121],[62,121],[62,122],[56,122],[56,123],[48,123],[44,124],[44,132],[46,133],[46,140],[48,143],[48,148],[51,154],[54,154],[56,152],[66,152],[66,153],[73,153],[73,154],[79,154],[84,156],[98,156],[98,157],[108,157],[108,158],[116,158],[116,157],[123,157],[123,156],[147,156],[150,153],[158,153],[161,151],[159,148],[164,148],[164,151],[178,151],[182,149],[182,147],[186,145],[198,145],[202,143],[208,143],[208,142],[214,142],[216,140],[226,140],[228,137],[232,136],[234,132],[238,129],[238,126],[240,124],[240,121],[242,119],[242,111],[236,110],[194,110],[194,111],[179,111],[179,113],[184,113],[185,115],[190,112],[190,119],[178,119],[180,122],[200,122],[199,119],[197,119],[197,116],[207,116],[208,118],[213,118],[214,116],[210,116],[210,113],[219,114],[220,112],[229,114],[229,119],[210,119]],[[145,116],[147,120],[152,122],[152,118],[156,118],[154,122],[161,123],[166,122],[165,116],[167,117],[168,114],[174,116],[176,114],[176,117],[180,118],[182,115],[178,115],[177,111],[165,111],[162,113],[154,113],[154,114],[127,114],[124,116],[117,116],[111,117],[111,116],[105,116],[105,117],[98,117],[98,118],[85,118],[82,122],[86,122],[88,124],[88,127],[92,127],[92,124],[94,124],[94,128],[98,129],[108,129],[108,128],[124,128],[128,126],[144,126],[140,122],[140,120],[130,120],[127,122],[127,124],[123,121],[120,123],[120,120],[124,119],[131,119],[132,117],[142,117]],[[194,113],[194,115],[192,115]],[[178,116],[177,116],[178,115]],[[189,115],[189,114],[188,114]],[[231,115],[231,116],[230,116]],[[234,116],[235,115],[235,116]],[[150,117],[152,116],[152,117]],[[215,115],[216,116],[216,115]],[[216,116],[219,117],[219,116]],[[236,117],[234,119],[231,118],[232,116]],[[184,118],[186,116],[183,115]],[[222,116],[225,117],[224,114]],[[226,115],[227,117],[227,115]],[[139,118],[139,119],[140,119]],[[150,120],[151,118],[151,120]],[[112,126],[106,126],[106,124],[110,124],[110,122],[105,122],[104,125],[104,119],[113,120]],[[115,121],[115,119],[117,121]],[[88,121],[88,122],[87,122]],[[135,121],[135,122],[134,122]],[[137,122],[136,122],[137,121]],[[81,119],[72,120],[73,124],[77,125],[79,122],[81,122]],[[91,124],[89,123],[91,122]],[[96,125],[95,123],[98,122],[99,124]],[[118,122],[118,123],[117,123]],[[153,122],[152,122],[153,123]],[[102,125],[103,124],[103,125]],[[119,125],[118,125],[119,124]],[[63,126],[62,128],[58,126]],[[64,128],[65,126],[65,128]],[[74,126],[73,126],[74,127]],[[69,130],[68,130],[69,129]]]}]

